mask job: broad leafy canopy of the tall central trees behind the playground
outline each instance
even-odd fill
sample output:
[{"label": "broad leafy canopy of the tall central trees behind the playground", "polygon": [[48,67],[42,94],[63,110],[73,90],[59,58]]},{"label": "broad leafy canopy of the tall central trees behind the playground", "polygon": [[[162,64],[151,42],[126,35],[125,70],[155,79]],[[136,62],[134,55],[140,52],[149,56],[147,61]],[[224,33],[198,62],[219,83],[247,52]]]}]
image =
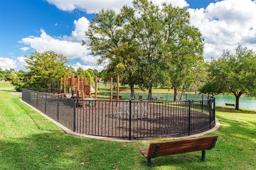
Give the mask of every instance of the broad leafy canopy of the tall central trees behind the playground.
[{"label": "broad leafy canopy of the tall central trees behind the playground", "polygon": [[102,9],[85,34],[82,45],[100,56],[98,63],[107,60],[107,74],[123,74],[120,82],[131,89],[189,85],[188,74],[203,60],[200,31],[190,25],[186,8],[171,4],[134,0],[133,7],[123,6],[118,14]]}]

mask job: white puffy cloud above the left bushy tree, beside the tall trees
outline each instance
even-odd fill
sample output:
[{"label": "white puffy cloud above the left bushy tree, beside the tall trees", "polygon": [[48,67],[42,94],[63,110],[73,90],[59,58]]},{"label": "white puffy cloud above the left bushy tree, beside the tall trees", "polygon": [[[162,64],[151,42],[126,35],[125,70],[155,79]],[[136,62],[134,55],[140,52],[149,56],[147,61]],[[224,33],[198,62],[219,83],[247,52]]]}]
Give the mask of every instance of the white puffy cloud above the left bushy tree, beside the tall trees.
[{"label": "white puffy cloud above the left bushy tree, beside the tall trees", "polygon": [[[63,37],[51,37],[40,29],[40,37],[29,36],[19,41],[21,44],[30,45],[32,49],[42,53],[44,51],[54,51],[63,54],[67,59],[79,59],[82,64],[94,66],[97,64],[96,57],[89,55],[90,51],[86,46],[82,46],[84,31],[88,28],[89,21],[82,17],[74,21],[74,30],[71,35]],[[21,48],[21,49],[25,49]],[[100,67],[102,69],[102,66]]]}]

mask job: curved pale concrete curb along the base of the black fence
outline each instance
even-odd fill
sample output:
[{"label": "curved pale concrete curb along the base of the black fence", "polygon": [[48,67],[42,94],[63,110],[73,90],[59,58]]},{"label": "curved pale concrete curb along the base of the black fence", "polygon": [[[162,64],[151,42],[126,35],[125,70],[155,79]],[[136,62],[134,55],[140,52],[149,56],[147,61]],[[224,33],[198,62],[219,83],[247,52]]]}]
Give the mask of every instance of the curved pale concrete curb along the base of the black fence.
[{"label": "curved pale concrete curb along the base of the black fence", "polygon": [[[76,132],[71,131],[67,127],[64,127],[63,125],[61,125],[60,123],[58,123],[54,119],[50,118],[49,116],[45,115],[42,111],[40,111],[40,110],[36,109],[35,107],[31,106],[30,104],[24,102],[22,99],[20,99],[20,101],[23,102],[24,104],[26,104],[27,106],[29,106],[30,108],[34,109],[34,111],[40,113],[40,115],[44,116],[46,119],[49,119],[50,121],[52,121],[55,125],[60,127],[65,133],[67,133],[69,135],[75,135],[75,136],[79,136],[79,137],[86,137],[86,138],[90,138],[90,139],[100,139],[100,140],[106,140],[106,141],[117,141],[117,142],[150,141],[150,140],[129,141],[129,140],[124,140],[124,139],[114,139],[114,138],[110,138],[110,137],[99,137],[99,136],[94,136],[94,135],[86,135],[86,134],[82,134],[82,133],[76,133]],[[185,137],[176,137],[176,138],[167,138],[167,139],[186,139],[186,138],[198,137],[198,136],[201,136],[201,135],[205,135],[207,133],[211,133],[211,132],[217,130],[219,127],[220,127],[220,122],[215,117],[215,126],[214,126],[214,128],[212,128],[208,131],[198,133],[198,134],[195,134],[195,135],[185,136]]]}]

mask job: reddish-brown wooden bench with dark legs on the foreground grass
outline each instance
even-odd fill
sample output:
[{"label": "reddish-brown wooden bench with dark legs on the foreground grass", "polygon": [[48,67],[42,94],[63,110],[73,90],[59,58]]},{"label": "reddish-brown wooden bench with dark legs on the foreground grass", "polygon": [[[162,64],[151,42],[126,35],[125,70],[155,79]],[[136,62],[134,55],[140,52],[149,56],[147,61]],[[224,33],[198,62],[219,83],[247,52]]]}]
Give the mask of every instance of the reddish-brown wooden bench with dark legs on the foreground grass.
[{"label": "reddish-brown wooden bench with dark legs on the foreground grass", "polygon": [[150,166],[151,158],[200,150],[202,150],[201,160],[204,161],[206,150],[214,148],[217,139],[218,135],[214,135],[176,141],[154,142],[150,143],[148,148],[141,148],[140,152],[147,158],[147,166]]}]

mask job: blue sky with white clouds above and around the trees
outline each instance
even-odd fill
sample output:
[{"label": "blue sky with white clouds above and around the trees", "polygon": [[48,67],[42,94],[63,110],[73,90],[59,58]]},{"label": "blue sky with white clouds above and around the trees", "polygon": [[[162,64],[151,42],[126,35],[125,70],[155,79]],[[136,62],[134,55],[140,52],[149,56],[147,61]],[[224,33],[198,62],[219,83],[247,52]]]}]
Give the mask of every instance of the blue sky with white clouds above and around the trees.
[{"label": "blue sky with white clouds above and around the trees", "polygon": [[[153,0],[185,6],[191,24],[205,38],[204,58],[220,57],[241,43],[256,51],[256,0]],[[132,0],[0,0],[0,67],[25,70],[24,55],[55,51],[65,55],[75,69],[101,70],[90,50],[81,46],[94,12],[117,12]]]}]

